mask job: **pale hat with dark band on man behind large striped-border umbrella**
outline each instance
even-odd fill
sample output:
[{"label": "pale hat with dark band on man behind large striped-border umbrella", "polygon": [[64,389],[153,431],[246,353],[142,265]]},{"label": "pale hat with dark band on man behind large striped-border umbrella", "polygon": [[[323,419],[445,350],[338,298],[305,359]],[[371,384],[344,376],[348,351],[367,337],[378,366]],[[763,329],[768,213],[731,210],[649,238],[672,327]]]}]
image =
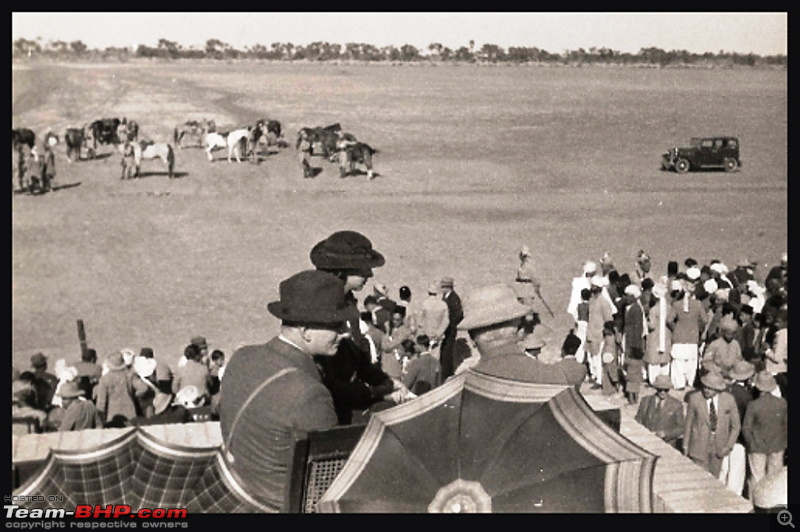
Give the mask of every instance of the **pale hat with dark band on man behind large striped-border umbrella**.
[{"label": "pale hat with dark band on man behind large striped-border umbrella", "polygon": [[530,312],[529,307],[519,302],[514,289],[505,283],[473,290],[464,297],[463,308],[464,319],[458,324],[462,330],[521,318]]}]

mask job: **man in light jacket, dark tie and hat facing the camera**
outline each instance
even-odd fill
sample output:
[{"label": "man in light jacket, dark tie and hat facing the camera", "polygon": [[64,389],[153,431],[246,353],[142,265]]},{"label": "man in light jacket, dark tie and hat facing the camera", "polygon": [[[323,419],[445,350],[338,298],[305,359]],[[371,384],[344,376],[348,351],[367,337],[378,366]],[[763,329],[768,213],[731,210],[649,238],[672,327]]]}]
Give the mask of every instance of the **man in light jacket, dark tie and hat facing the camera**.
[{"label": "man in light jacket, dark tie and hat facing the camera", "polygon": [[725,391],[725,379],[719,373],[706,373],[700,382],[702,391],[688,397],[683,454],[718,478],[722,460],[739,437],[741,420],[736,401]]}]

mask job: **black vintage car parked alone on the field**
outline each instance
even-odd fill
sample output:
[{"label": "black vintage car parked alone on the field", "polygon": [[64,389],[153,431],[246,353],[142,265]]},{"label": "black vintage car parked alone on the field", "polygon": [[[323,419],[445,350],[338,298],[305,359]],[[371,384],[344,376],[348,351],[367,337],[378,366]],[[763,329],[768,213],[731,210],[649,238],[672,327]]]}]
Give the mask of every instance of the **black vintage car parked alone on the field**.
[{"label": "black vintage car parked alone on the field", "polygon": [[689,148],[672,148],[661,157],[662,170],[685,174],[702,168],[724,168],[734,172],[742,166],[736,137],[696,137]]}]

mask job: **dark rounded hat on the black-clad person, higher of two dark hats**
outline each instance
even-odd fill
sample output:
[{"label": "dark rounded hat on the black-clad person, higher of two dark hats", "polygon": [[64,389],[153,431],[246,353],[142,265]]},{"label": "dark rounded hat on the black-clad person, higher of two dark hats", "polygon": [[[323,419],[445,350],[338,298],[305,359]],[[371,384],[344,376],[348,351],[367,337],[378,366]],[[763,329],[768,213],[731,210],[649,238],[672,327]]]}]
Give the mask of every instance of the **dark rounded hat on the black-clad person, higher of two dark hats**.
[{"label": "dark rounded hat on the black-clad person, higher of two dark hats", "polygon": [[322,270],[367,270],[386,260],[372,249],[369,238],[356,231],[338,231],[311,250],[311,262]]}]

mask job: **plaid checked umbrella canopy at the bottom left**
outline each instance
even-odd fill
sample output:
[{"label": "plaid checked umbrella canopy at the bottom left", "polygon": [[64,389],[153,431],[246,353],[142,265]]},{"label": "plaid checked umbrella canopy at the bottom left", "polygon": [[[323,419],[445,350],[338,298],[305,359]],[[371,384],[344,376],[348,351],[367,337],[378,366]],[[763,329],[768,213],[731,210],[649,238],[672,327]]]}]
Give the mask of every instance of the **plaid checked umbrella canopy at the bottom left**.
[{"label": "plaid checked umbrella canopy at the bottom left", "polygon": [[[188,513],[266,511],[241,489],[219,447],[164,442],[136,428],[101,445],[52,450],[38,474],[14,495],[43,495],[20,503],[28,509],[79,504],[141,508],[186,508]],[[63,496],[63,502],[57,497]]]}]

